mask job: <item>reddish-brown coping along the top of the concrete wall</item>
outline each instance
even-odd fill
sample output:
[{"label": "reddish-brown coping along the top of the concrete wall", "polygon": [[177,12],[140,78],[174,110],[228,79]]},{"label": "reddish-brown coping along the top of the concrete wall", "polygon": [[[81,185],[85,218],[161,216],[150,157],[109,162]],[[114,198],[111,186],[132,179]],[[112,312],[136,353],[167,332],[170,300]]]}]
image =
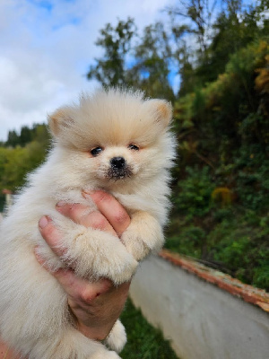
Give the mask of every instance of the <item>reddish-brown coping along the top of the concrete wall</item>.
[{"label": "reddish-brown coping along the top of the concrete wall", "polygon": [[252,285],[245,285],[239,279],[233,278],[211,267],[206,267],[195,261],[194,258],[187,258],[169,250],[161,250],[159,257],[168,260],[175,266],[181,267],[187,272],[204,279],[222,290],[236,295],[245,302],[260,307],[263,311],[269,312],[269,293],[263,289],[255,288]]}]

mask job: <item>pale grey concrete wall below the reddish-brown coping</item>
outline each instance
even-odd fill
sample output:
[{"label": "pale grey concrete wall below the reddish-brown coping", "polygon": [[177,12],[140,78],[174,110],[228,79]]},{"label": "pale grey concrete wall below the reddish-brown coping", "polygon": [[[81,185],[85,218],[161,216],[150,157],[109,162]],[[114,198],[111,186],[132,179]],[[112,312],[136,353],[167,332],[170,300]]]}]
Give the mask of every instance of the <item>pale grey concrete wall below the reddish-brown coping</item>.
[{"label": "pale grey concrete wall below the reddish-brown coping", "polygon": [[167,260],[145,260],[134,276],[130,296],[145,318],[171,340],[180,359],[269,358],[265,311]]}]

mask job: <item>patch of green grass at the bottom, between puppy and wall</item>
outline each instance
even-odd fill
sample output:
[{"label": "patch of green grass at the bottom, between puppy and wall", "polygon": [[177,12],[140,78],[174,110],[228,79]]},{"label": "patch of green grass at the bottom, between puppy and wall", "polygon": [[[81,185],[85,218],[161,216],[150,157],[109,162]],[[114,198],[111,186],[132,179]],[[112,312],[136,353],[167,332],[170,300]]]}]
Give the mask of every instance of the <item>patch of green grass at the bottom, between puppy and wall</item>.
[{"label": "patch of green grass at the bottom, between puppy and wall", "polygon": [[144,318],[141,311],[134,308],[130,299],[121,315],[126,327],[127,344],[120,353],[123,359],[178,359],[169,340],[163,338],[160,329],[153,328]]}]

